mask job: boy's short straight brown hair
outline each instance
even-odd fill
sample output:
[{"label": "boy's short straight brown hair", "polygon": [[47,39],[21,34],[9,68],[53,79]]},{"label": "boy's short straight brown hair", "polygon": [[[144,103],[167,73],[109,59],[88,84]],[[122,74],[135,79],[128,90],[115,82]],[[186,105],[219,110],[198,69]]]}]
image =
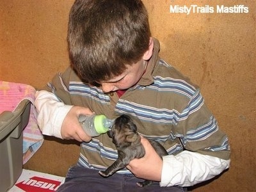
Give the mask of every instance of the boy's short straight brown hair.
[{"label": "boy's short straight brown hair", "polygon": [[108,81],[143,58],[150,44],[147,10],[139,0],[76,0],[68,48],[87,83]]}]

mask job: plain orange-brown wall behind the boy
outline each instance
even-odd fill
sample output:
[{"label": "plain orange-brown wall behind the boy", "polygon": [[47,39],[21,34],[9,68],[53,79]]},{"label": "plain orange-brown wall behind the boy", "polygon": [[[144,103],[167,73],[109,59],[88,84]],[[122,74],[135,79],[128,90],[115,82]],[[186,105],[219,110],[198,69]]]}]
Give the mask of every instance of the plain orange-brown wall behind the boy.
[{"label": "plain orange-brown wall behind the boy", "polygon": [[[152,35],[161,42],[161,56],[200,85],[207,105],[230,139],[228,172],[195,191],[255,190],[255,1],[143,2]],[[38,88],[68,66],[67,20],[72,3],[1,1],[0,80]],[[171,4],[244,4],[249,13],[186,15],[170,13]],[[65,175],[78,153],[76,142],[47,138],[25,168]]]}]

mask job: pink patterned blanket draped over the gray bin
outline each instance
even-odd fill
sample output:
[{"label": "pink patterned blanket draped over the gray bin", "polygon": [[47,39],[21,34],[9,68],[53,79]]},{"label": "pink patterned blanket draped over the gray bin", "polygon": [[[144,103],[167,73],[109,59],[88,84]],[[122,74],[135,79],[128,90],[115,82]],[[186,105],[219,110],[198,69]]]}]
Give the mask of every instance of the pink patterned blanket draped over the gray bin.
[{"label": "pink patterned blanket draped over the gray bin", "polygon": [[0,81],[0,113],[14,111],[20,101],[31,101],[28,125],[23,131],[23,164],[41,147],[44,137],[36,124],[35,88],[28,84]]}]

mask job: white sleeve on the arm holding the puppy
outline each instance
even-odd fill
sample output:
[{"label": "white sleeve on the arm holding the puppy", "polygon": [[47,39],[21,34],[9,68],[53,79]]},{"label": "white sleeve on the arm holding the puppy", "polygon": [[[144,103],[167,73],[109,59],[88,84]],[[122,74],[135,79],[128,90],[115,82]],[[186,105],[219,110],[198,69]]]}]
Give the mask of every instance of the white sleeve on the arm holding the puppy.
[{"label": "white sleeve on the arm holding the puppy", "polygon": [[229,159],[220,159],[187,150],[175,156],[164,156],[160,186],[193,186],[219,175],[229,165]]}]

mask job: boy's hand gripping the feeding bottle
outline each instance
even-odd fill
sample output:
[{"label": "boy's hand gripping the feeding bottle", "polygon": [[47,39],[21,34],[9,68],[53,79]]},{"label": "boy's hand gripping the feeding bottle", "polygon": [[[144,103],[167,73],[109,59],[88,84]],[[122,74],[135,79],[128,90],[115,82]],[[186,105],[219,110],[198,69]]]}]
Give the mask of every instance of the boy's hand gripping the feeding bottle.
[{"label": "boy's hand gripping the feeding bottle", "polygon": [[93,112],[89,108],[83,108],[79,106],[74,106],[70,109],[67,116],[65,117],[61,125],[61,136],[66,140],[77,140],[77,141],[90,141],[91,136],[88,136],[81,125],[78,122],[78,116],[80,114],[92,115]]}]

